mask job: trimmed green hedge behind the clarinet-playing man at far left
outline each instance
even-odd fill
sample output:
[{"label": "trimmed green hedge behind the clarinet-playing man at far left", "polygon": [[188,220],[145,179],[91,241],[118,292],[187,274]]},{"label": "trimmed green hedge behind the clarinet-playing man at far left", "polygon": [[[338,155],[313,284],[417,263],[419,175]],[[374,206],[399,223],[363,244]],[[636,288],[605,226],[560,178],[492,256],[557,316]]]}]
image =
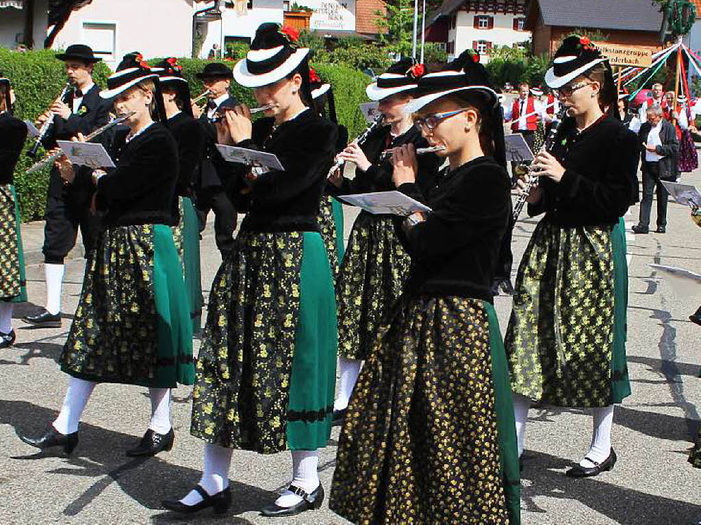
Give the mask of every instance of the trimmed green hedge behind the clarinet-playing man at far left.
[{"label": "trimmed green hedge behind the clarinet-playing man at far left", "polygon": [[[20,53],[0,48],[0,71],[11,80],[17,95],[15,116],[18,118],[34,121],[48,109],[66,85],[63,62],[55,58],[55,53],[53,50]],[[95,67],[95,81],[104,85],[107,76],[107,66],[98,63]],[[25,151],[34,143],[30,139],[31,137],[27,139]],[[43,155],[43,151],[40,155]],[[46,206],[49,169],[27,175],[26,170],[32,163],[34,160],[23,151],[15,168],[15,186],[24,221],[41,219]]]}]

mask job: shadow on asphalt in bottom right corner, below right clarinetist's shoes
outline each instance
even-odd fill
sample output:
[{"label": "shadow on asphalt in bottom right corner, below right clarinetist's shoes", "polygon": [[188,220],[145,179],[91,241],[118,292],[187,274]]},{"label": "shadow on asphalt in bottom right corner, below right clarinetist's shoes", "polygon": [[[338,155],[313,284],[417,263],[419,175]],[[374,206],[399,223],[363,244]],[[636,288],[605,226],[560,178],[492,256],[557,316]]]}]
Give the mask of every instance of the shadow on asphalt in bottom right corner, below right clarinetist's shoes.
[{"label": "shadow on asphalt in bottom right corner, below right clarinetist's shoes", "polygon": [[[701,519],[701,505],[623,489],[604,481],[615,477],[615,468],[599,477],[571,479],[561,471],[571,465],[569,461],[533,451],[527,451],[524,458],[521,477],[530,483],[521,486],[523,510],[545,513],[537,499],[546,496],[579,501],[621,525],[693,524]],[[618,461],[625,461],[625,456],[619,455]],[[681,459],[679,468],[687,467],[693,468]],[[631,512],[632,509],[637,512]],[[533,518],[533,523],[537,521]]]}]

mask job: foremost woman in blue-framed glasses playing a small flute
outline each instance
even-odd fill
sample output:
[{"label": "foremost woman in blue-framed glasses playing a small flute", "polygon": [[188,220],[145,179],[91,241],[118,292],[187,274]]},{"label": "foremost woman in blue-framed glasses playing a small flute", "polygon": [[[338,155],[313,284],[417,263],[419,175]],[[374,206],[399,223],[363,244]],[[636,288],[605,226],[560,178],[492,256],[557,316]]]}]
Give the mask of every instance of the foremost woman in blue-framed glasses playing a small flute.
[{"label": "foremost woman in blue-framed glasses playing a small flute", "polygon": [[329,507],[355,524],[519,524],[508,368],[491,280],[509,224],[501,108],[469,51],[418,80],[407,105],[449,167],[416,184],[414,146],[393,180],[431,212],[404,219],[407,290],[360,372]]}]

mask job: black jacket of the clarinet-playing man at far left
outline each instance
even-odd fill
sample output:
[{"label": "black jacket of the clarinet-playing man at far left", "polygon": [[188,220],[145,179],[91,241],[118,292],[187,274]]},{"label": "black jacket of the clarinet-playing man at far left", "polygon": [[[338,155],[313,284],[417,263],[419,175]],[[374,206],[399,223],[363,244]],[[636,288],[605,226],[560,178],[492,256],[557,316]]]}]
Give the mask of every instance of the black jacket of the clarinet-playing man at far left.
[{"label": "black jacket of the clarinet-playing man at far left", "polygon": [[[69,107],[72,107],[73,96],[69,95],[64,101]],[[100,126],[109,122],[109,110],[111,109],[111,101],[104,100],[100,97],[100,87],[94,84],[87,93],[83,95],[83,100],[78,109],[78,113],[74,113],[68,118],[56,116],[54,118],[53,130],[48,134],[43,141],[46,149],[51,149],[56,146],[57,140],[70,140],[81,132],[83,135],[88,135],[91,131],[100,128]],[[57,169],[52,169],[48,182],[48,195],[50,197],[62,196],[66,187]],[[87,206],[84,195],[72,195],[68,201],[75,206]]]}]

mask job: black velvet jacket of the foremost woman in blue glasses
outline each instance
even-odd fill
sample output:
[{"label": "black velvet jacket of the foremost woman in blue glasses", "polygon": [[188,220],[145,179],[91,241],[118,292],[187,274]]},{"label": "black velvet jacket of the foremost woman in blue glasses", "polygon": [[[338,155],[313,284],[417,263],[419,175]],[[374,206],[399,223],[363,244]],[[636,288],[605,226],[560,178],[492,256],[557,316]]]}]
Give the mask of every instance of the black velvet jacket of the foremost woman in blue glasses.
[{"label": "black velvet jacket of the foremost woman in blue glasses", "polygon": [[408,231],[399,229],[411,255],[407,294],[463,296],[491,302],[501,240],[509,227],[510,182],[491,157],[442,170],[425,193],[418,184],[399,191],[433,211]]}]

